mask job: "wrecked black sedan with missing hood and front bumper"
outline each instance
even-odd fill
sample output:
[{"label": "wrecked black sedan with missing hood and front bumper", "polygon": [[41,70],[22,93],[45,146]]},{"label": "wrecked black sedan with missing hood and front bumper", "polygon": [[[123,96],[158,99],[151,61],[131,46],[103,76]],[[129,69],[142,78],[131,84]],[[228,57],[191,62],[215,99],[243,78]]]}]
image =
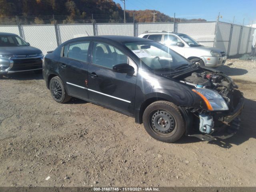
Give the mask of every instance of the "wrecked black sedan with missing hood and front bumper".
[{"label": "wrecked black sedan with missing hood and front bumper", "polygon": [[116,110],[163,142],[184,133],[224,139],[240,126],[244,98],[230,77],[151,40],[75,38],[45,56],[43,76],[56,102],[76,97]]}]

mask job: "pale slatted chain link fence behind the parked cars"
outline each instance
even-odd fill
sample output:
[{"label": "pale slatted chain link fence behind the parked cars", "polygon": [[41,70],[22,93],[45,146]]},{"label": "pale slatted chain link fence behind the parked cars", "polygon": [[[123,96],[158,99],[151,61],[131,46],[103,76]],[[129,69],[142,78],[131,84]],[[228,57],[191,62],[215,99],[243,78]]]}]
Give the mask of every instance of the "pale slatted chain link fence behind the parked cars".
[{"label": "pale slatted chain link fence behind the parked cars", "polygon": [[72,38],[94,35],[138,36],[145,31],[184,33],[204,46],[217,47],[228,56],[251,52],[255,28],[225,22],[84,23],[2,25],[0,32],[18,34],[45,54]]}]

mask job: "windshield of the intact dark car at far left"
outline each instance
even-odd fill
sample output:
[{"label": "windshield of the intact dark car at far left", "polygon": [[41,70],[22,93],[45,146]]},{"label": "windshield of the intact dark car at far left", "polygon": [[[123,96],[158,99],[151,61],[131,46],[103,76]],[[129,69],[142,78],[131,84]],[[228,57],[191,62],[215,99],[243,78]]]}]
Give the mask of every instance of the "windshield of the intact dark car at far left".
[{"label": "windshield of the intact dark car at far left", "polygon": [[28,46],[28,44],[19,36],[0,35],[0,46],[1,47]]}]

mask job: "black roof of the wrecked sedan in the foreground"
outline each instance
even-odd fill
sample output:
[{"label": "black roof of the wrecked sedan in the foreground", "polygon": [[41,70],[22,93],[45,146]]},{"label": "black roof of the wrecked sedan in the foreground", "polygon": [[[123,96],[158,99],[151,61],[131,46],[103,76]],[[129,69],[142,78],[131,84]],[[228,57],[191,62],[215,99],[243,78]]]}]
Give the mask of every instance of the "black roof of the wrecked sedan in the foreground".
[{"label": "black roof of the wrecked sedan in the foreground", "polygon": [[94,40],[94,41],[108,41],[115,43],[123,43],[123,42],[136,42],[136,41],[152,41],[149,39],[132,37],[132,36],[118,36],[118,35],[102,35],[102,36],[86,36],[86,37],[78,37],[74,39],[70,39],[63,44],[67,44],[74,41],[82,41],[82,40]]}]

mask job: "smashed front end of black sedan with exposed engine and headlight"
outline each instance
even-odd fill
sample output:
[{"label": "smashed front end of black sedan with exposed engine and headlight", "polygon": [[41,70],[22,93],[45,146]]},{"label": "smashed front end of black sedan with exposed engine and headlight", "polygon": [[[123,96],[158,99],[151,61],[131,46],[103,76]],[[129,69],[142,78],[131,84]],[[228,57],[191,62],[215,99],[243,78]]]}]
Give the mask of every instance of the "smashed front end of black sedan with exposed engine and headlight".
[{"label": "smashed front end of black sedan with exposed engine and headlight", "polygon": [[202,102],[199,108],[180,106],[186,117],[186,135],[210,141],[236,133],[244,97],[230,77],[217,70],[200,68],[172,78],[190,86]]}]

